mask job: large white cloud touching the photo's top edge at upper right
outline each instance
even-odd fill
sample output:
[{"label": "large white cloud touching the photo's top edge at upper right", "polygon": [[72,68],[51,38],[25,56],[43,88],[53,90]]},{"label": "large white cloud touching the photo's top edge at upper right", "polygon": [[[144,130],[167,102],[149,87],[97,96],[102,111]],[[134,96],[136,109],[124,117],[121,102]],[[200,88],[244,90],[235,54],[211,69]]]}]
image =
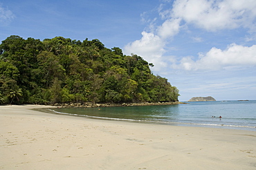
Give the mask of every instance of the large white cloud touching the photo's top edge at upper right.
[{"label": "large white cloud touching the photo's top edge at upper right", "polygon": [[172,17],[208,31],[254,28],[255,8],[255,0],[176,0]]}]

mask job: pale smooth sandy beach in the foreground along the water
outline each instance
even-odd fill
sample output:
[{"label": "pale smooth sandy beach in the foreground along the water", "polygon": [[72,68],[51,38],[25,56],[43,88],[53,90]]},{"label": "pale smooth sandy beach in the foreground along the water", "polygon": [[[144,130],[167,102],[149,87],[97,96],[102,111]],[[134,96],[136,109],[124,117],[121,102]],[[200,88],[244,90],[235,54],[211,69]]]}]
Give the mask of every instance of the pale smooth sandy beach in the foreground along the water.
[{"label": "pale smooth sandy beach in the foreground along the water", "polygon": [[0,169],[256,169],[256,131],[93,120],[0,106]]}]

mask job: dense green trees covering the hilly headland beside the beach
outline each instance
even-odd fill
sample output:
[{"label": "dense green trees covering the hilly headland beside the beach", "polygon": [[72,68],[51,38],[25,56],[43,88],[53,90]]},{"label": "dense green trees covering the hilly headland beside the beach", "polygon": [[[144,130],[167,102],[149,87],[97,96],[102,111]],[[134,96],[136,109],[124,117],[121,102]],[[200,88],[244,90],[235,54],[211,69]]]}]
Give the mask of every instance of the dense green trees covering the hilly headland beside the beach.
[{"label": "dense green trees covering the hilly headland beside the beach", "polygon": [[138,55],[98,39],[23,39],[0,45],[0,104],[176,102],[179,90]]}]

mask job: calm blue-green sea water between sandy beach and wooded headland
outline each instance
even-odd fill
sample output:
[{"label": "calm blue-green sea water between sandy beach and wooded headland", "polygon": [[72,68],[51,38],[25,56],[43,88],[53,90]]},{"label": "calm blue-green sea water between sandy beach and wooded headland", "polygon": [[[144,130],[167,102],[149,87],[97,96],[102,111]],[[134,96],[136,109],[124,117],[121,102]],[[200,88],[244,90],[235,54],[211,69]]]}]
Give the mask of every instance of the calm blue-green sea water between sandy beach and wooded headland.
[{"label": "calm blue-green sea water between sandy beach and wooded headland", "polygon": [[188,102],[188,104],[169,106],[51,108],[49,110],[57,114],[105,120],[256,131],[256,100]]}]

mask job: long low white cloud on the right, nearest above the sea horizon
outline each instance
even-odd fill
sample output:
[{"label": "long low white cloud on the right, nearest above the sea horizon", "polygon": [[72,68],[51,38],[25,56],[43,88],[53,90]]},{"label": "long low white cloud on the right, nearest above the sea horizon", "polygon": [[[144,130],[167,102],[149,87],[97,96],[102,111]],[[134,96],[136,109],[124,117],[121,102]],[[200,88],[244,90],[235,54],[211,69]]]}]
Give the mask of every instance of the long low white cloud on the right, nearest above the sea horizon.
[{"label": "long low white cloud on the right, nearest above the sea horizon", "polygon": [[218,70],[230,66],[256,66],[256,45],[239,46],[230,44],[226,50],[212,48],[208,53],[199,53],[199,59],[183,57],[172,68],[184,70]]}]

